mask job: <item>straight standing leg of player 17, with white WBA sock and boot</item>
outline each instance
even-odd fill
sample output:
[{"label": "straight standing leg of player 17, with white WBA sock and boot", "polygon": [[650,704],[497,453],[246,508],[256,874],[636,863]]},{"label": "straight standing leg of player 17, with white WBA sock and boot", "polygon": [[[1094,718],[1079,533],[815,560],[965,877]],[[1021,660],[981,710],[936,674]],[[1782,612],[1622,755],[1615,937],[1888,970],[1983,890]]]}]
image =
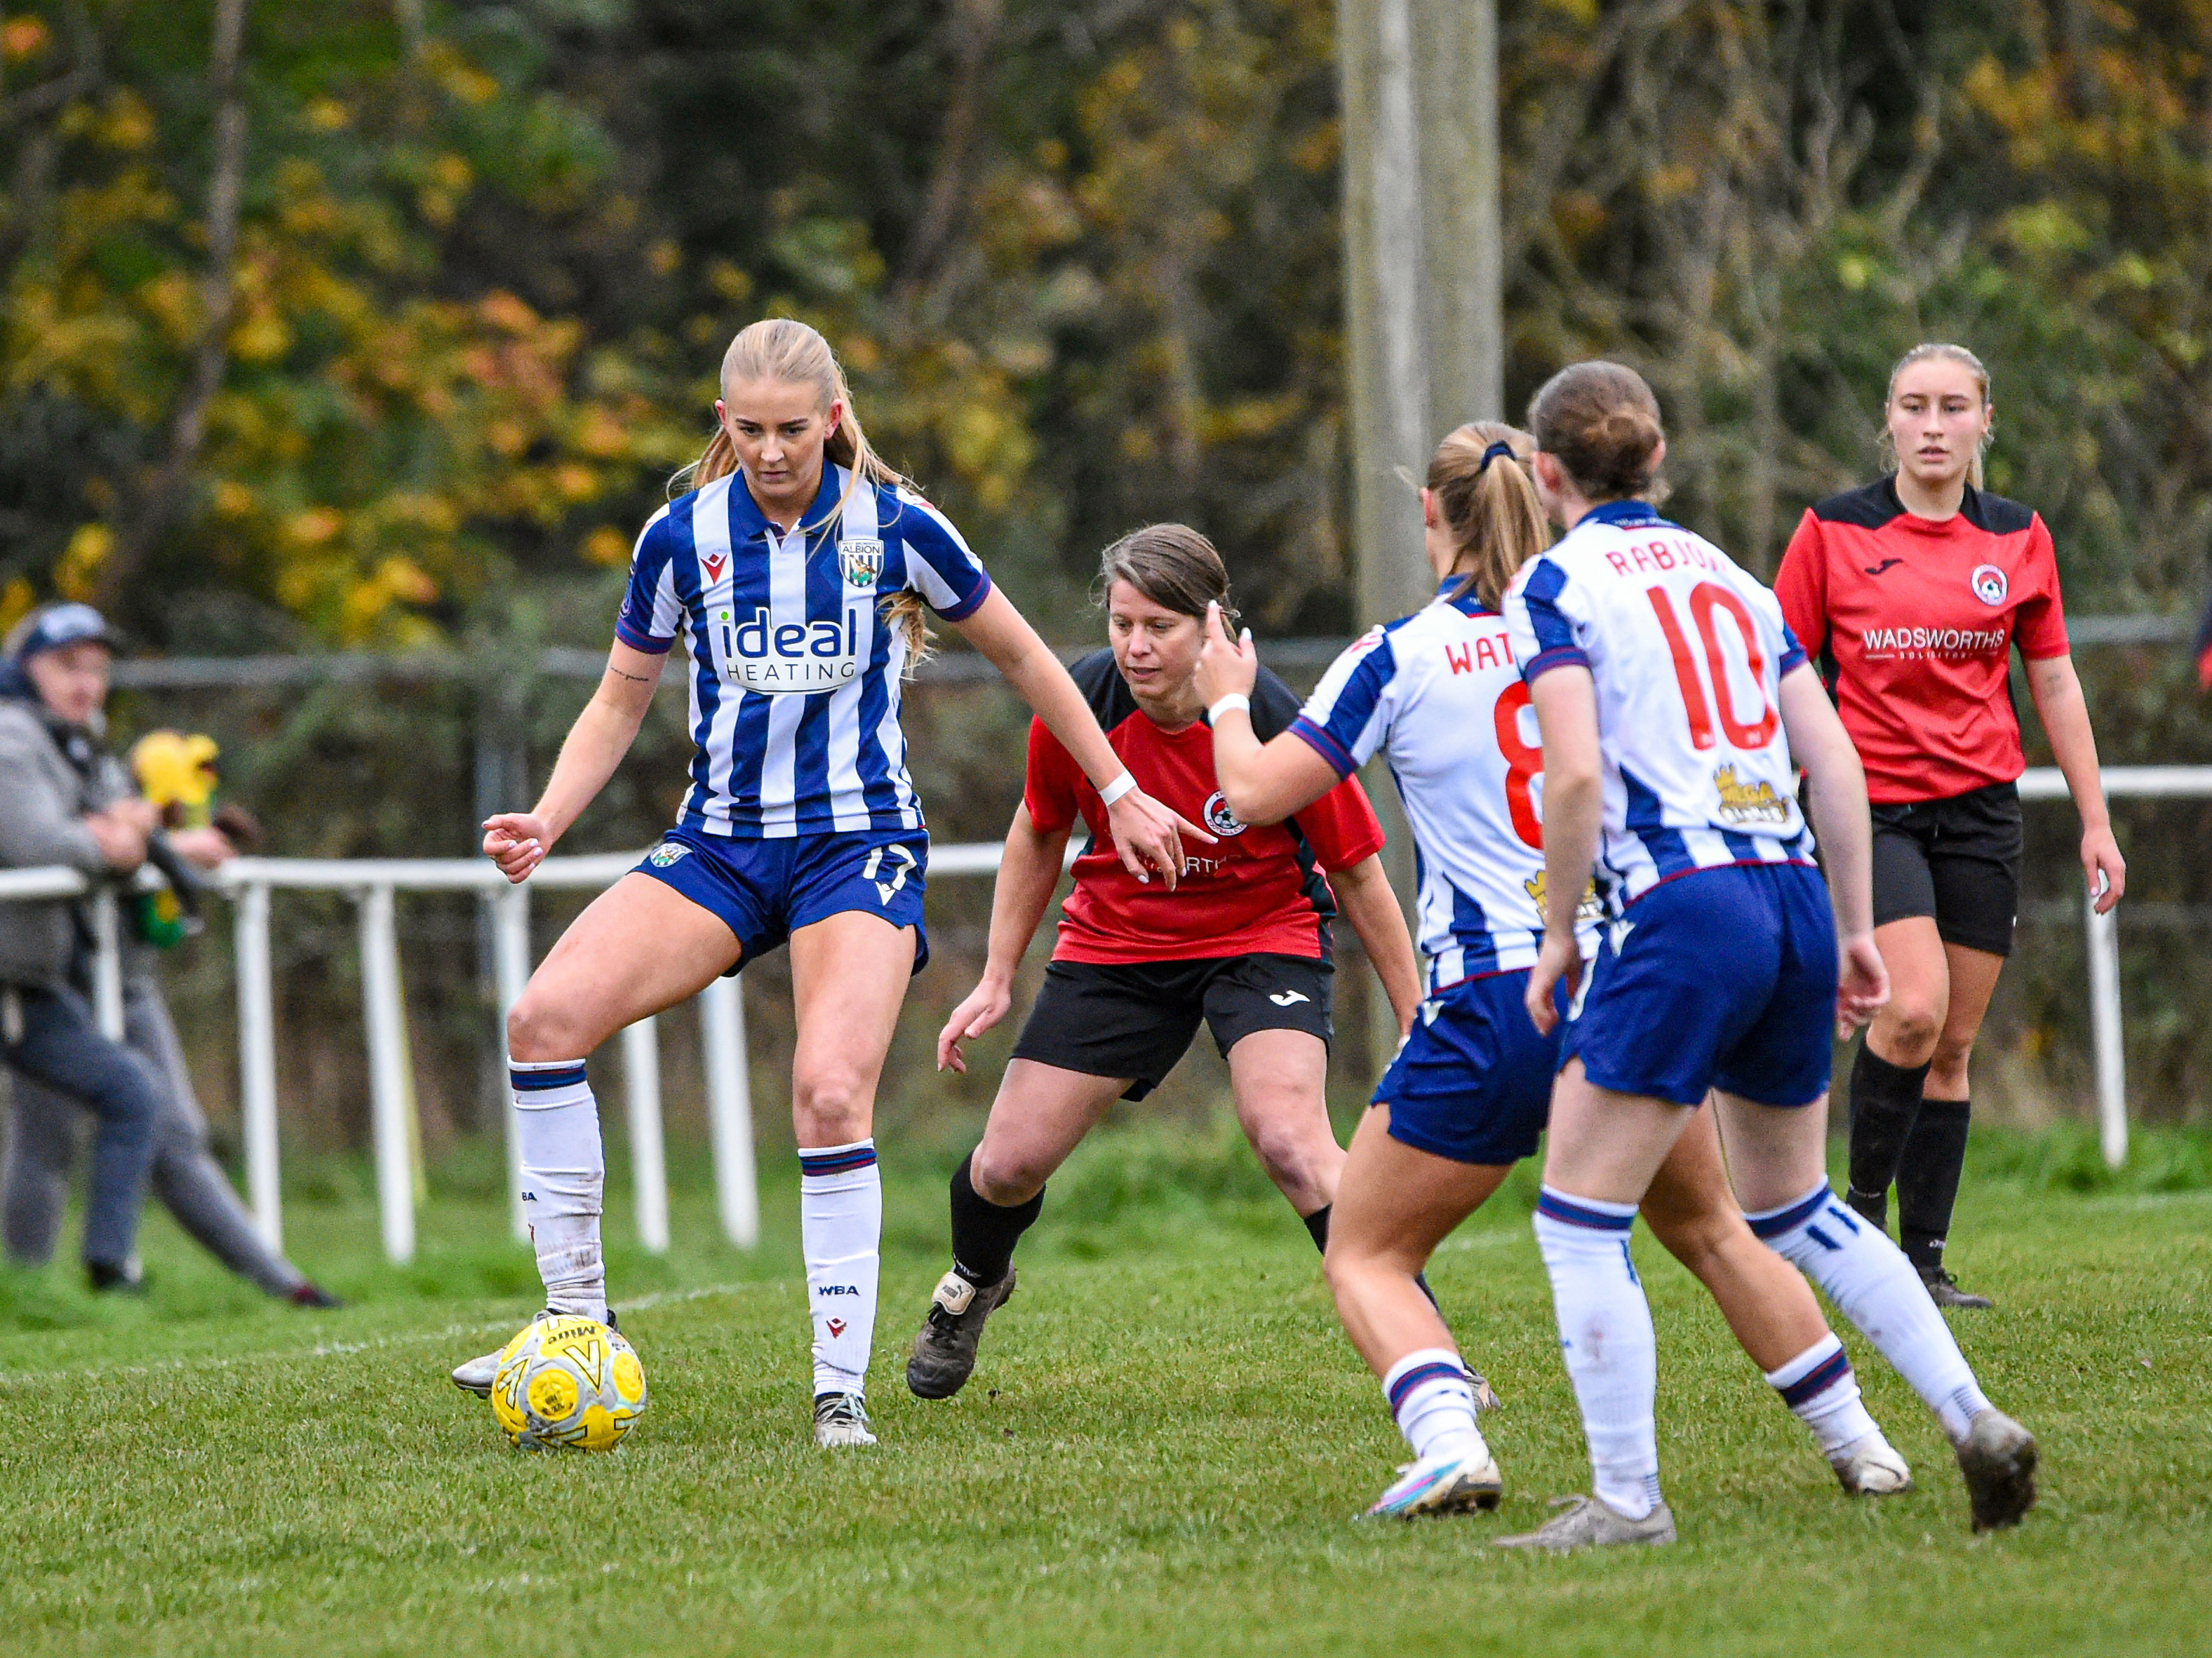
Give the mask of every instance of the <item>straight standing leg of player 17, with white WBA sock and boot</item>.
[{"label": "straight standing leg of player 17, with white WBA sock and boot", "polygon": [[876,1083],[914,975],[911,926],[843,911],[792,933],[792,1132],[814,1320],[814,1444],[872,1446],[867,1357],[883,1265]]}]

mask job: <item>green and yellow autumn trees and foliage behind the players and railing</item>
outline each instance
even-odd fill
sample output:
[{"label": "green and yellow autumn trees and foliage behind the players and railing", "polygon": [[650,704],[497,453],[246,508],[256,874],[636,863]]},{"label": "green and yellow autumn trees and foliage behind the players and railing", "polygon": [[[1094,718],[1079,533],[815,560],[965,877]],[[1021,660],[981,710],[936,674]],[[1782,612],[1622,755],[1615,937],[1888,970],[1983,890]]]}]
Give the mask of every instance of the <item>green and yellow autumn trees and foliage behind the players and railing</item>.
[{"label": "green and yellow autumn trees and foliage behind the players and railing", "polygon": [[[164,517],[210,343],[221,2],[0,20],[0,623],[84,595],[155,652],[465,650],[456,690],[122,710],[217,730],[276,851],[460,851],[487,705],[542,772],[580,688],[522,668],[604,643],[721,345],[768,312],[830,334],[876,442],[1055,639],[1093,630],[1097,546],[1157,517],[1221,544],[1263,637],[1365,621],[1332,4],[250,0],[232,314]],[[1995,369],[1991,482],[2051,520],[2073,608],[2194,606],[2203,0],[1502,0],[1500,40],[1509,407],[1575,356],[1637,363],[1674,511],[1770,568],[1876,469],[1891,358],[1960,338]],[[2212,756],[2179,652],[2084,670],[2108,758]],[[940,836],[1011,805],[993,699],[916,696]],[[659,721],[580,833],[650,836],[679,743]],[[2124,814],[2137,893],[2181,906],[2128,933],[2130,1068],[2172,1114],[2212,986],[2139,944],[2201,920],[2205,829]],[[1989,1066],[2028,1114],[2081,1083],[2070,831],[2031,833]],[[471,922],[411,926],[418,1019],[467,1046],[471,953],[420,946]],[[343,915],[292,944],[296,1021],[349,1006]]]}]

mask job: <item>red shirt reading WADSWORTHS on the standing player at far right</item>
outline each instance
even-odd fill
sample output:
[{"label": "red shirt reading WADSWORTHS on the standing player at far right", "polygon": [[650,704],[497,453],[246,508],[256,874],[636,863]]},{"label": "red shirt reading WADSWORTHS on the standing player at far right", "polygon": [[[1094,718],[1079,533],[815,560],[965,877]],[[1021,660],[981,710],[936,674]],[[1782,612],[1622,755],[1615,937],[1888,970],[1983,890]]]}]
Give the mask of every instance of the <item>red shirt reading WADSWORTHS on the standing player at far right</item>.
[{"label": "red shirt reading WADSWORTHS on the standing player at far right", "polygon": [[1958,515],[1913,517],[1896,478],[1820,502],[1774,577],[1790,630],[1834,663],[1843,727],[1867,798],[1942,800],[2028,769],[2006,688],[2066,654],[2059,566],[2044,520],[1966,489]]}]

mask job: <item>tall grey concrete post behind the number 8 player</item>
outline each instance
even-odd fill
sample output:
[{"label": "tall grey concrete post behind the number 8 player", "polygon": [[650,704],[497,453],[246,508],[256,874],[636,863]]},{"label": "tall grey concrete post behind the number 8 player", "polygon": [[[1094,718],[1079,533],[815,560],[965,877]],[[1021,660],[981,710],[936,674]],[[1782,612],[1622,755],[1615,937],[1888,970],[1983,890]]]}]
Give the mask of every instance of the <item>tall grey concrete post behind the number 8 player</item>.
[{"label": "tall grey concrete post behind the number 8 player", "polygon": [[[1436,440],[1504,411],[1495,0],[1338,0],[1356,626],[1433,595],[1418,484]],[[1413,913],[1413,842],[1383,765],[1367,791]],[[1374,997],[1387,1054],[1389,1008]]]}]

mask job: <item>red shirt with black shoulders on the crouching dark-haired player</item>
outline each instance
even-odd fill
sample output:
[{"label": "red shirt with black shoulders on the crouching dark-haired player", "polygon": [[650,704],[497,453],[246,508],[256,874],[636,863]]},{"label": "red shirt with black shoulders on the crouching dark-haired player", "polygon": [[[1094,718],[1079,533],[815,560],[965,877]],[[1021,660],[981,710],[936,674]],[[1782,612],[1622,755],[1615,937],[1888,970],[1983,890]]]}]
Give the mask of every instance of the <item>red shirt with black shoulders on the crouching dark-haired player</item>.
[{"label": "red shirt with black shoulders on the crouching dark-haired player", "polygon": [[[1221,800],[1214,734],[1206,721],[1181,732],[1157,727],[1137,707],[1110,650],[1084,657],[1071,672],[1137,787],[1206,825],[1219,842],[1183,842],[1183,875],[1172,893],[1157,875],[1137,882],[1113,849],[1106,807],[1091,778],[1044,721],[1031,721],[1022,789],[1029,820],[1053,833],[1079,816],[1091,829],[1091,847],[1075,860],[1075,891],[1062,904],[1053,959],[1199,962],[1254,951],[1327,959],[1336,895],[1325,873],[1383,851],[1383,825],[1358,778],[1345,778],[1285,822],[1241,825]],[[1296,694],[1263,668],[1252,690],[1254,730],[1272,736],[1296,712]]]}]

